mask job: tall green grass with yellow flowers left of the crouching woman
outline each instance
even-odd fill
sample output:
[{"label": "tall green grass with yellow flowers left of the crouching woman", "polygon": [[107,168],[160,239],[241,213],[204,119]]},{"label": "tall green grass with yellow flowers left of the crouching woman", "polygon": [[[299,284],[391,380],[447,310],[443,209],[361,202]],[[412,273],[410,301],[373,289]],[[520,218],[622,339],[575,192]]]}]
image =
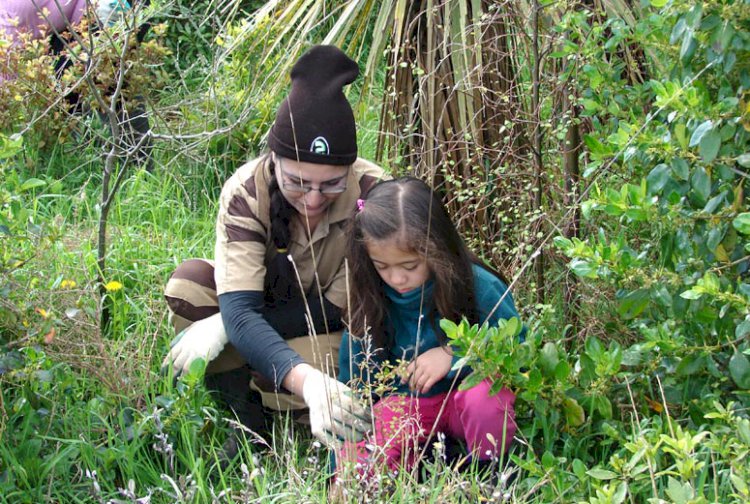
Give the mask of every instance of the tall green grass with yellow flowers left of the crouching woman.
[{"label": "tall green grass with yellow flowers left of the crouching woman", "polygon": [[[4,310],[9,332],[0,354],[0,502],[325,502],[328,453],[305,428],[279,418],[268,445],[246,443],[225,467],[227,412],[198,375],[175,383],[160,371],[172,337],[162,288],[181,261],[211,257],[218,186],[191,178],[197,166],[179,174],[134,170],[125,179],[110,215],[105,275],[122,287],[102,301],[112,309],[111,333],[103,336],[95,285],[99,181],[86,172],[95,166],[91,153],[77,154],[73,160],[54,149],[44,170],[11,168],[47,184],[23,197],[40,236],[6,242],[31,259],[10,276],[18,295],[4,305],[13,309]],[[42,157],[30,150],[27,159],[38,166]],[[79,168],[65,173],[71,163]],[[490,492],[440,462],[425,471],[423,482],[403,475],[371,485],[370,498],[439,502],[455,487],[454,497],[473,502]],[[364,497],[347,486],[350,501]]]}]

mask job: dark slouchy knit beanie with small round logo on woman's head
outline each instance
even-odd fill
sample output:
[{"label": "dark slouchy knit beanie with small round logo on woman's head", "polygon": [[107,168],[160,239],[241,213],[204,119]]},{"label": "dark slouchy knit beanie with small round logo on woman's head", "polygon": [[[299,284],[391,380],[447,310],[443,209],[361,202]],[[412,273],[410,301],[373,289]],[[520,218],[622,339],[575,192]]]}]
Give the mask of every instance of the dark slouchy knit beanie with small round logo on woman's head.
[{"label": "dark slouchy knit beanie with small round logo on woman's head", "polygon": [[357,131],[343,87],[358,75],[357,63],[337,47],[318,45],[303,54],[268,135],[271,150],[308,163],[354,163]]}]

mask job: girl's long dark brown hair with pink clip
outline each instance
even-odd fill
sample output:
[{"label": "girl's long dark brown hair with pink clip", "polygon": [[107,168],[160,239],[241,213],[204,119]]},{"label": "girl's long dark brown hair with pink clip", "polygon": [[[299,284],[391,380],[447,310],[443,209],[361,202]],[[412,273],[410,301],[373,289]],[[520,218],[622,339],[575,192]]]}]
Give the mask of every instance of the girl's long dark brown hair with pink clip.
[{"label": "girl's long dark brown hair with pink clip", "polygon": [[441,343],[446,338],[437,327],[437,318],[458,321],[466,317],[472,324],[481,322],[472,264],[484,265],[466,247],[438,194],[417,178],[402,177],[374,186],[352,220],[347,250],[350,278],[354,279],[349,309],[352,335],[370,334],[375,348],[392,344],[385,284],[366,246],[368,240],[389,239],[396,239],[404,251],[425,257],[434,281],[432,299],[425,300],[425,313]]}]

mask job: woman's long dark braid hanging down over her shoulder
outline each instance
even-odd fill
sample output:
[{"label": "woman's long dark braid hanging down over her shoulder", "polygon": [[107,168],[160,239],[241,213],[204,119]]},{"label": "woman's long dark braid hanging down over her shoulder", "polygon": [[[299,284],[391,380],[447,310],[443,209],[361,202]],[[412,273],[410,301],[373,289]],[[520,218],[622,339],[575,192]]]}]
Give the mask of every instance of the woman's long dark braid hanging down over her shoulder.
[{"label": "woman's long dark braid hanging down over her shoulder", "polygon": [[268,186],[268,196],[271,200],[269,217],[271,220],[271,240],[276,247],[276,255],[273,256],[266,268],[265,290],[267,300],[272,302],[273,300],[289,300],[300,294],[294,266],[287,258],[289,243],[292,238],[289,226],[297,211],[281,193],[271,154],[266,154],[260,160],[259,166],[265,166],[266,164],[271,171],[271,183]]}]

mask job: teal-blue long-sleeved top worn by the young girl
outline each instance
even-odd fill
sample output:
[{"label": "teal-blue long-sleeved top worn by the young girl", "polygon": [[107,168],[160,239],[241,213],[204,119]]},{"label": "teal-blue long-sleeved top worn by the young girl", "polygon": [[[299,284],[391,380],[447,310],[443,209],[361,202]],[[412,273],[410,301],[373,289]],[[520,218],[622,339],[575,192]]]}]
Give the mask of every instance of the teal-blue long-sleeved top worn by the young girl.
[{"label": "teal-blue long-sleeved top worn by the young girl", "polygon": [[[497,310],[488,318],[488,314],[503,294],[506,293],[508,287],[499,278],[481,266],[474,264],[472,269],[474,272],[474,289],[476,291],[479,322],[481,323],[486,320],[490,326],[493,326],[497,325],[500,319],[507,320],[512,317],[518,317],[518,312],[513,304],[513,298],[508,292]],[[385,286],[385,290],[388,301],[387,316],[391,324],[395,344],[385,354],[380,352],[379,357],[371,356],[369,366],[364,369],[365,376],[362,376],[362,363],[365,361],[363,341],[358,338],[350,338],[349,332],[344,331],[341,348],[339,349],[339,380],[344,383],[350,382],[353,378],[357,382],[373,383],[370,377],[384,363],[387,362],[395,367],[399,360],[411,361],[417,349],[417,342],[419,342],[419,354],[440,346],[435,327],[433,326],[433,322],[430,321],[430,317],[423,316],[420,323],[419,306],[422,299],[422,288],[414,289],[405,294],[399,294],[388,286]],[[433,281],[429,280],[424,285],[425,306],[422,313],[425,315],[431,312],[432,291]],[[454,322],[458,323],[459,321],[456,320]],[[437,323],[438,320],[435,320],[434,324]],[[438,328],[438,330],[440,329]],[[524,328],[522,331],[521,336],[523,337],[526,329]],[[453,364],[459,358],[460,356],[454,355]],[[468,369],[463,369],[461,375],[468,375],[469,371]],[[456,371],[449,371],[442,380],[433,385],[428,393],[418,395],[429,397],[448,391],[455,376]],[[409,390],[408,384],[402,385],[398,379],[389,384],[389,390],[392,391],[389,393],[395,394],[408,395],[412,393]]]}]

